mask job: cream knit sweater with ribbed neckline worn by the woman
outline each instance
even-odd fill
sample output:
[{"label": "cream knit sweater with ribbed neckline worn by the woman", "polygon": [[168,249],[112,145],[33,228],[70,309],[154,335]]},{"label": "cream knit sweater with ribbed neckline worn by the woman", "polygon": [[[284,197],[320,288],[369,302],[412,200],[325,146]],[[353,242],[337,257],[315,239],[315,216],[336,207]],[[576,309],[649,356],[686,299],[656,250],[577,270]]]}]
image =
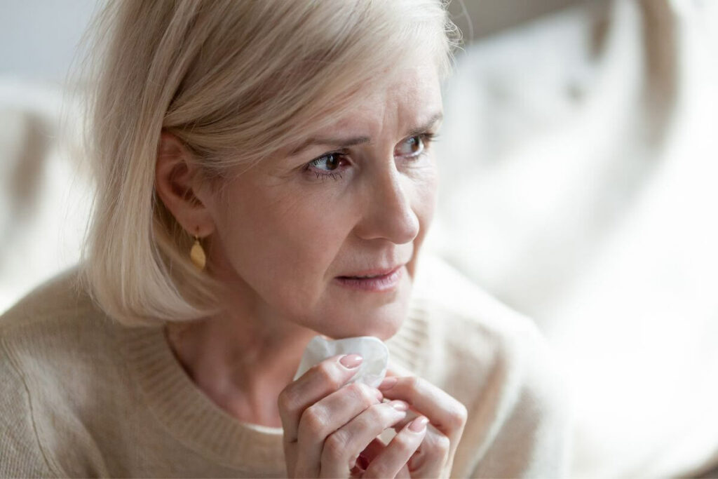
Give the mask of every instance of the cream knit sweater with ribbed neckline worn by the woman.
[{"label": "cream knit sweater with ribbed neckline worn by the woman", "polygon": [[[0,476],[286,476],[281,429],[230,417],[161,326],[118,325],[77,284],[70,270],[0,318]],[[564,394],[531,322],[432,264],[387,345],[469,410],[452,477],[564,473]]]}]

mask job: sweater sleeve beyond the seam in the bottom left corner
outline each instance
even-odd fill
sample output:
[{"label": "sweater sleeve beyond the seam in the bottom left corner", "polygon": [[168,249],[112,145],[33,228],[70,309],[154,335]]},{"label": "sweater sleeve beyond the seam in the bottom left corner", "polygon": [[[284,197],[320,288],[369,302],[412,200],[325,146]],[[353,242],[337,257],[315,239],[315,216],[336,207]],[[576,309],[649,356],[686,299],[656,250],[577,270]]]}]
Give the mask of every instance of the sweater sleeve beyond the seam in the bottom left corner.
[{"label": "sweater sleeve beyond the seam in the bottom left corner", "polygon": [[39,445],[27,385],[1,337],[0,384],[0,478],[57,477]]}]

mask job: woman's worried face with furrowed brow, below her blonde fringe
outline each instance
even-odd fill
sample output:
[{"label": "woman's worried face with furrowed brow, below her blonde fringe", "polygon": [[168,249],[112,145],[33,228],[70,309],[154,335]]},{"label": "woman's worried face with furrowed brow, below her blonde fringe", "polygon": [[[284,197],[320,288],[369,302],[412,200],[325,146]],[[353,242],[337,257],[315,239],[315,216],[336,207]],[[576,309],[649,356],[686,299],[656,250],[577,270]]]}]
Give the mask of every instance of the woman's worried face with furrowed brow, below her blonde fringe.
[{"label": "woman's worried face with furrowed brow, below her blonde fringe", "polygon": [[441,116],[436,70],[398,72],[205,201],[210,261],[236,304],[332,338],[391,337],[432,220]]}]

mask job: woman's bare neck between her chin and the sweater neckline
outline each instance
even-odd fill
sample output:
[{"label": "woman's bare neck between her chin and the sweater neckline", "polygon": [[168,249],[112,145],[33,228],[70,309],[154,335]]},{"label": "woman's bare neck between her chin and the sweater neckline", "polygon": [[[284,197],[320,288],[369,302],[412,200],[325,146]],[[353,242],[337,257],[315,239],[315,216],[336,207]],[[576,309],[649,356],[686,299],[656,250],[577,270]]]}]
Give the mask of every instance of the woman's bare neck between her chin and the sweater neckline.
[{"label": "woman's bare neck between her chin and the sweater neckline", "polygon": [[276,404],[317,332],[270,315],[225,314],[166,327],[188,376],[242,422],[281,427]]}]

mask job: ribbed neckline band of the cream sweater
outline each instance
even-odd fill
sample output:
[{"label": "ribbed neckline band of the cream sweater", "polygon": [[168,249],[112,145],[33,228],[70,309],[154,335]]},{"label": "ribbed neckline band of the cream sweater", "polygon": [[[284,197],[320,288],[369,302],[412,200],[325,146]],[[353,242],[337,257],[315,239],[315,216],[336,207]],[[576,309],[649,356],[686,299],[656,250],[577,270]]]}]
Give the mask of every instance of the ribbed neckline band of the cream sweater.
[{"label": "ribbed neckline band of the cream sweater", "polygon": [[[411,302],[409,315],[386,345],[389,368],[405,373],[421,369],[417,354],[429,337],[421,304]],[[182,444],[208,460],[244,473],[286,475],[282,429],[240,422],[216,405],[187,376],[167,343],[161,325],[121,327],[126,361],[147,406]]]}]

